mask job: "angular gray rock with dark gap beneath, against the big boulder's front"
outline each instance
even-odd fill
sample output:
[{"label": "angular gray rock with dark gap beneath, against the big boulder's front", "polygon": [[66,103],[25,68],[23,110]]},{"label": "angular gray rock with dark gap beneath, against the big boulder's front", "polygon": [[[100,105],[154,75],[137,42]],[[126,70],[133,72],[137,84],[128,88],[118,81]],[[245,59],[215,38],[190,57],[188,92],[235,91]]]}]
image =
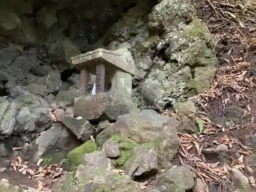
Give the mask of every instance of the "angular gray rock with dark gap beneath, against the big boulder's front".
[{"label": "angular gray rock with dark gap beneath, against the big boulder's front", "polygon": [[136,147],[132,160],[129,161],[129,176],[151,176],[158,172],[157,152],[152,146]]}]

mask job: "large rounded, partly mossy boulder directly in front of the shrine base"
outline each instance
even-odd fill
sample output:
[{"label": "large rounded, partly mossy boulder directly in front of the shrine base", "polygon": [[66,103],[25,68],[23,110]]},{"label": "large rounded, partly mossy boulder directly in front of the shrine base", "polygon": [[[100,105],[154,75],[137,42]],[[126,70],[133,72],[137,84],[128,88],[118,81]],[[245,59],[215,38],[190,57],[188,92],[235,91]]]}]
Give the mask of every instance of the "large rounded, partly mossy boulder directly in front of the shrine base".
[{"label": "large rounded, partly mossy boulder directly in front of the shrine base", "polygon": [[[104,142],[117,143],[121,154],[120,157],[113,159],[114,165],[130,171],[131,176],[135,177],[154,172],[158,166],[162,168],[171,166],[169,162],[177,154],[180,145],[176,132],[179,123],[175,118],[161,116],[153,110],[125,114],[118,117],[112,126],[104,129],[96,137],[96,143],[99,146]],[[148,148],[140,148],[144,145]],[[148,159],[151,161],[150,164],[142,163],[145,157],[150,158]],[[129,166],[136,164],[143,168],[133,170],[134,167]]]}]

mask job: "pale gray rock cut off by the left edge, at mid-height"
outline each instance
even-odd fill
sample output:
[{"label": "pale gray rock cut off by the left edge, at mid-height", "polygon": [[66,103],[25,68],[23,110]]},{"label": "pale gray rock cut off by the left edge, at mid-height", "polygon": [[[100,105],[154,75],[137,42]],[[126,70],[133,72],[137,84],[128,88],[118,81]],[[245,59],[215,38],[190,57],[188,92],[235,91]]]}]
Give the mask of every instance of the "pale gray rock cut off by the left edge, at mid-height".
[{"label": "pale gray rock cut off by the left edge, at mid-height", "polygon": [[1,138],[9,137],[16,123],[15,116],[17,113],[17,104],[15,102],[10,102],[9,99],[5,97],[0,97],[0,135]]}]

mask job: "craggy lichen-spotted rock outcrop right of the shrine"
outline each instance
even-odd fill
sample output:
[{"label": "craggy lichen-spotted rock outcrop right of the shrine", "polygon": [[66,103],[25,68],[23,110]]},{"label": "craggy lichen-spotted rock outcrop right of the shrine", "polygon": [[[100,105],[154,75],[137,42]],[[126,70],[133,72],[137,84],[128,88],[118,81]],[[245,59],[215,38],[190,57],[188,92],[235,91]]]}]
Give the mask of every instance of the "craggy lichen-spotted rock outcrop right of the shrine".
[{"label": "craggy lichen-spotted rock outcrop right of the shrine", "polygon": [[141,4],[131,8],[98,42],[133,46],[134,99],[164,108],[204,92],[216,72],[214,41],[191,2],[163,0],[150,14],[143,14],[145,9]]}]

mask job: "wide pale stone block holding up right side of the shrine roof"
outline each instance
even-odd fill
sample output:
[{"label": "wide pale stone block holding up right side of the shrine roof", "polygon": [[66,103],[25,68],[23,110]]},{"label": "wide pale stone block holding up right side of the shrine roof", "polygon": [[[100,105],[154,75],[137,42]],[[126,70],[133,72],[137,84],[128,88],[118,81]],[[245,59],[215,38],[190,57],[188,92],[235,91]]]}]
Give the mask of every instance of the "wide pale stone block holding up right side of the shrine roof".
[{"label": "wide pale stone block holding up right side of the shrine roof", "polygon": [[132,75],[121,70],[116,70],[112,78],[111,95],[131,99]]}]

